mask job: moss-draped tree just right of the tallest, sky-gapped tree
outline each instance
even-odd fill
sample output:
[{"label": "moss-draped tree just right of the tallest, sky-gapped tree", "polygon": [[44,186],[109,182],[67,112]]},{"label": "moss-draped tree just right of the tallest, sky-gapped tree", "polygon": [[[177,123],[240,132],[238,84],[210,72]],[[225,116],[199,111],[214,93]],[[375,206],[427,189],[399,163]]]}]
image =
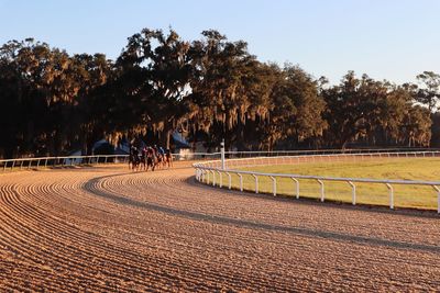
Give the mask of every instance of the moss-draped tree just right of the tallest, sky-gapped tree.
[{"label": "moss-draped tree just right of the tallest, sky-gapped tree", "polygon": [[[256,78],[250,72],[255,72],[258,65],[248,53],[245,42],[228,42],[217,31],[205,31],[202,35],[205,40],[193,43],[196,68],[190,84],[195,109],[193,121],[196,128],[211,134],[212,142],[218,144],[224,138],[226,147],[230,148],[238,137],[233,129],[246,121],[253,99],[249,86],[252,78]],[[257,106],[252,111],[264,112]]]}]

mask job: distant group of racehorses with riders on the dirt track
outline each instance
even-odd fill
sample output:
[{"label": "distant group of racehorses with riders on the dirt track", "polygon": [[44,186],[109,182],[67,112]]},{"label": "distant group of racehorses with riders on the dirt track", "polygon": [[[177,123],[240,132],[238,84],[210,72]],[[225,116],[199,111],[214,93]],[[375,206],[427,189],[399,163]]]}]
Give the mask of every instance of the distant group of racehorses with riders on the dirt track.
[{"label": "distant group of racehorses with riders on the dirt track", "polygon": [[156,168],[173,166],[173,156],[169,149],[156,147],[144,147],[139,150],[136,147],[130,149],[129,168],[133,171],[154,171]]}]

